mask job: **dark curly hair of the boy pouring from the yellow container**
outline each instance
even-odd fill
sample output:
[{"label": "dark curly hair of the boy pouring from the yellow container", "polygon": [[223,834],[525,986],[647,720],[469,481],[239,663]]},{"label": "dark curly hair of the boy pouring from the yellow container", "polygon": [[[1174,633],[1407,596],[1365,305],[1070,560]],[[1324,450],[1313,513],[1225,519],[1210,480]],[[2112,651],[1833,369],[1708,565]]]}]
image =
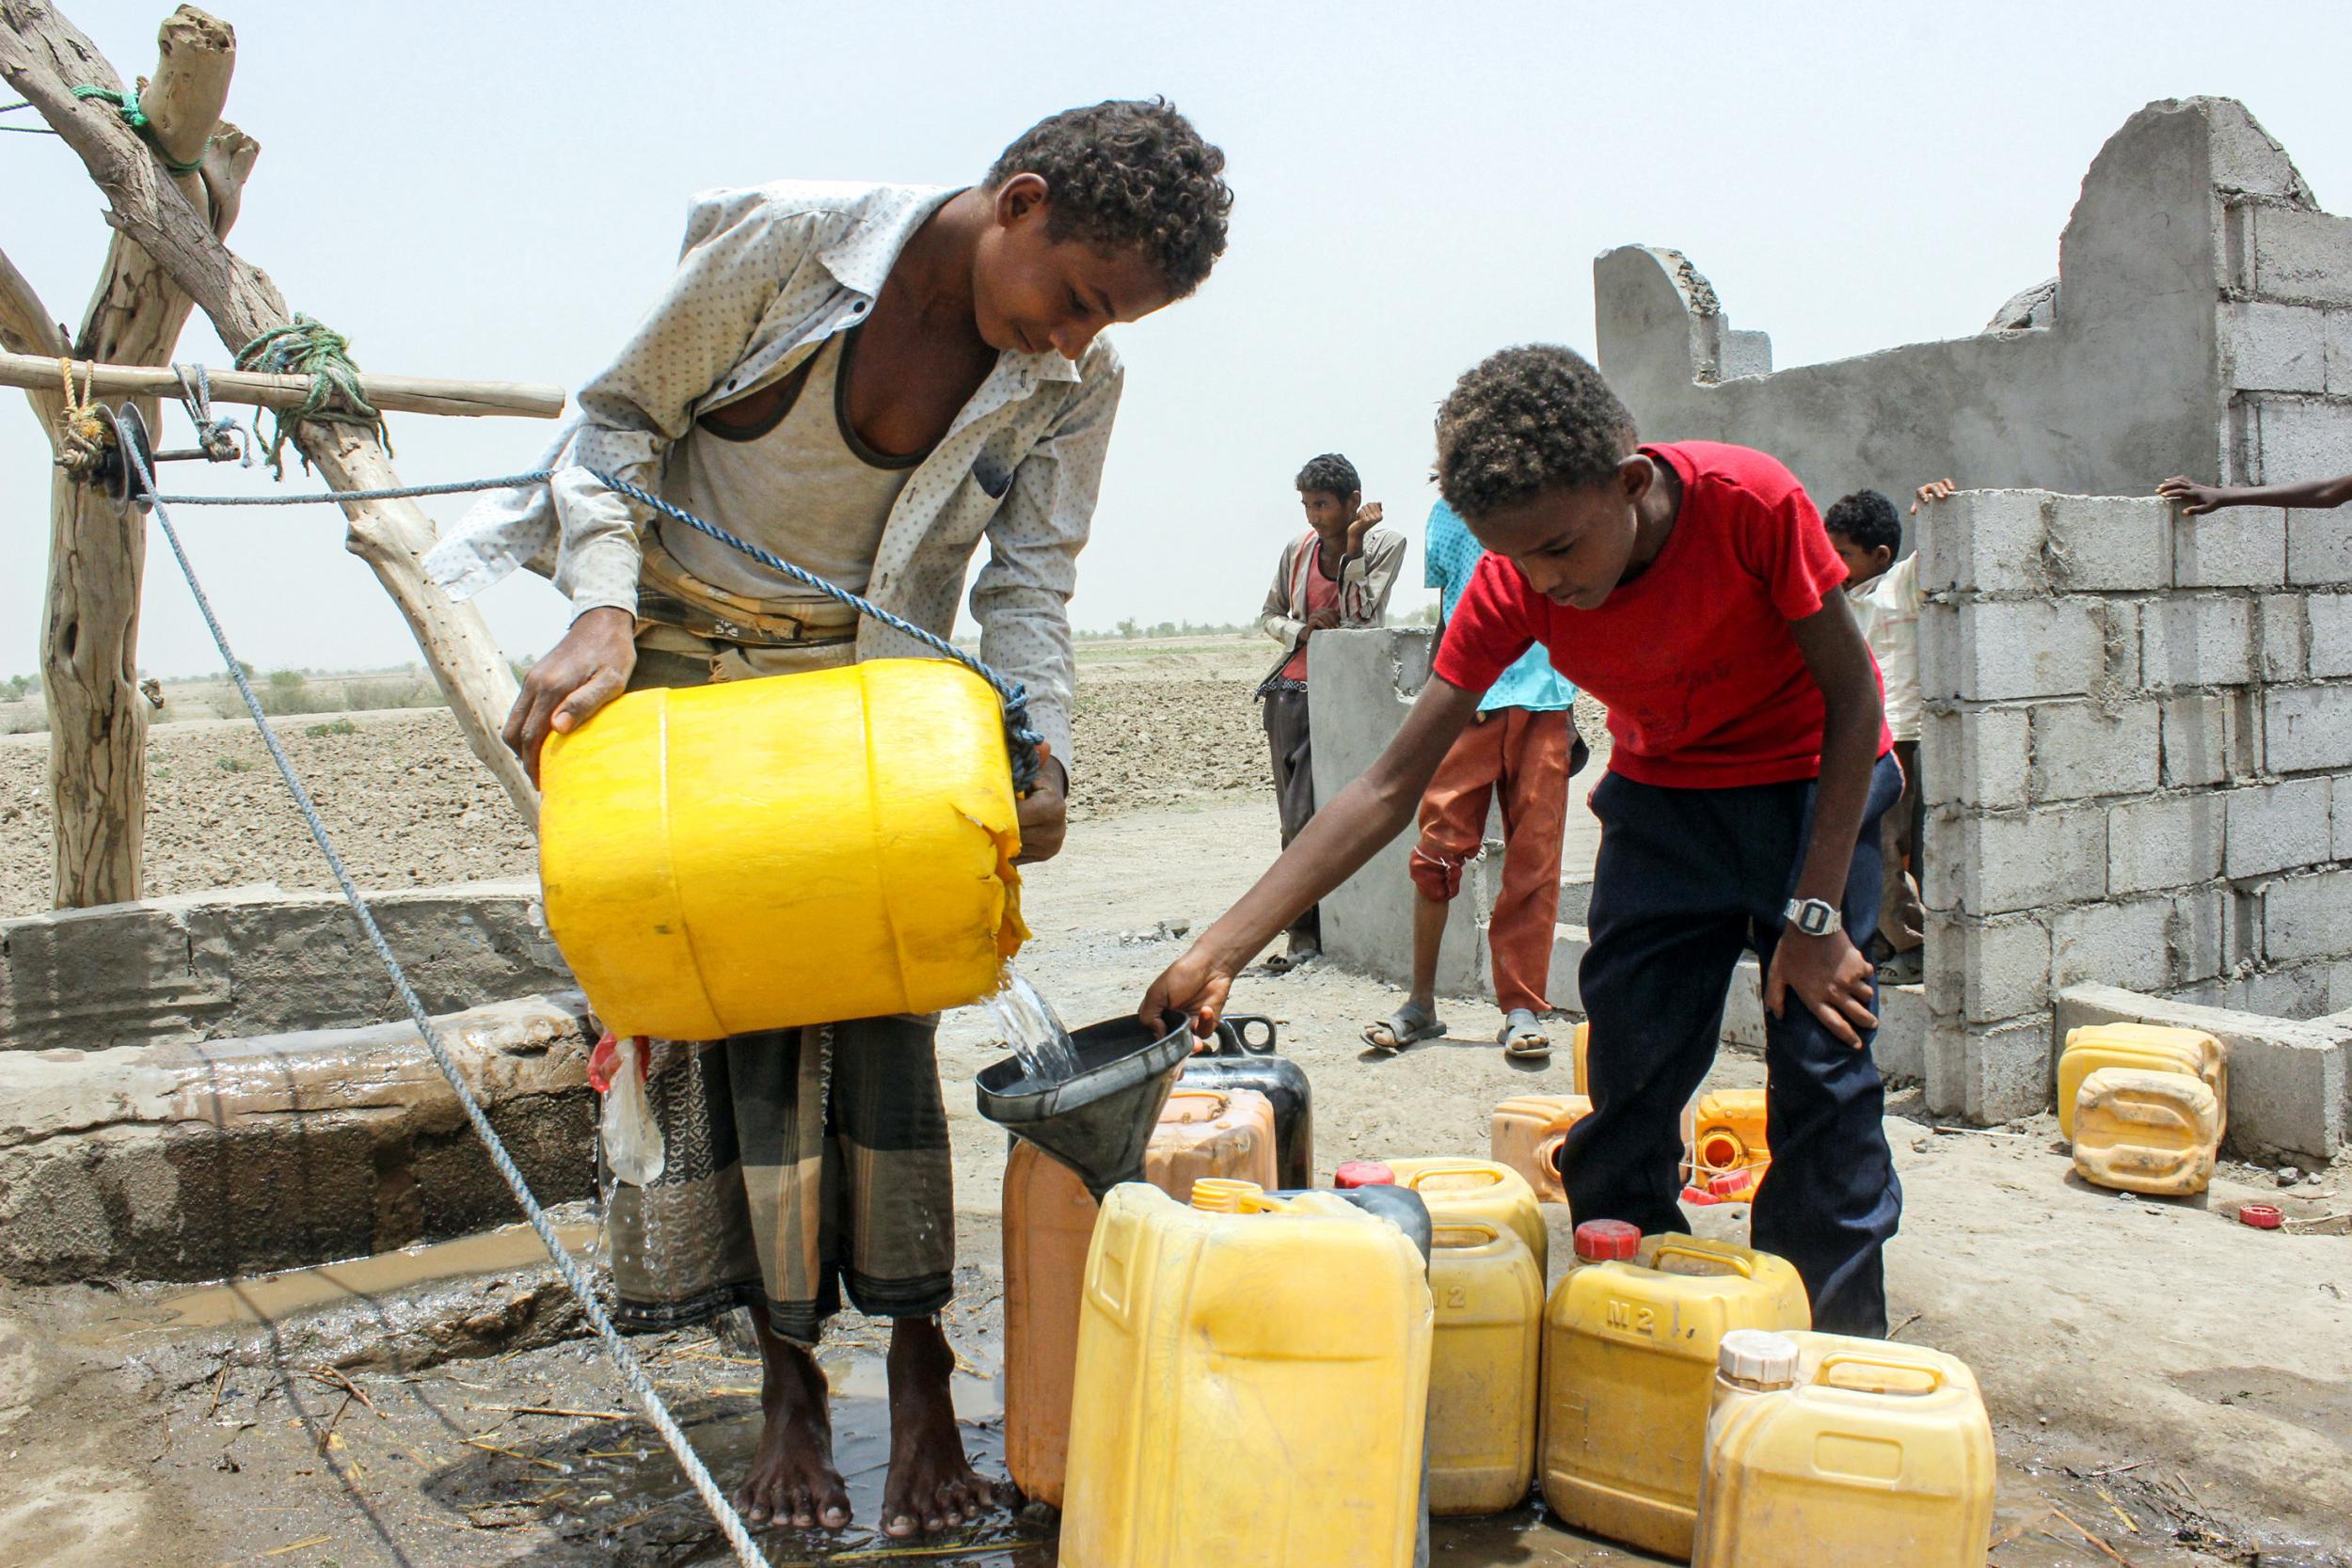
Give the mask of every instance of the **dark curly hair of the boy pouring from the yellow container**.
[{"label": "dark curly hair of the boy pouring from the yellow container", "polygon": [[1138,244],[1183,299],[1225,254],[1232,186],[1223,172],[1225,155],[1167,99],[1110,99],[1021,132],[988,169],[988,188],[1040,176],[1051,193],[1049,240]]}]

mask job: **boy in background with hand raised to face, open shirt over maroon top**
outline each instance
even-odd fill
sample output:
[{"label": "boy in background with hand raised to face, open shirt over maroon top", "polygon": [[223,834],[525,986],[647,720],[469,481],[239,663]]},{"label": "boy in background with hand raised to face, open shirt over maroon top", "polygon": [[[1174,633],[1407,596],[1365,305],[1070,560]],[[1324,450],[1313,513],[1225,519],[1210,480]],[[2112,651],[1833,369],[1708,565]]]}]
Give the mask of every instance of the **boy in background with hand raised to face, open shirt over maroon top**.
[{"label": "boy in background with hand raised to face, open shirt over maroon top", "polygon": [[[1381,503],[1364,505],[1355,463],[1336,451],[1298,470],[1298,508],[1308,531],[1282,545],[1275,585],[1265,590],[1258,625],[1289,654],[1258,682],[1265,703],[1265,743],[1275,757],[1275,806],[1282,846],[1315,816],[1315,738],[1308,729],[1308,637],[1388,623],[1388,592],[1404,564],[1404,534],[1381,527]],[[1322,954],[1322,917],[1308,905],[1291,922],[1284,952],[1265,959],[1287,973]]]}]

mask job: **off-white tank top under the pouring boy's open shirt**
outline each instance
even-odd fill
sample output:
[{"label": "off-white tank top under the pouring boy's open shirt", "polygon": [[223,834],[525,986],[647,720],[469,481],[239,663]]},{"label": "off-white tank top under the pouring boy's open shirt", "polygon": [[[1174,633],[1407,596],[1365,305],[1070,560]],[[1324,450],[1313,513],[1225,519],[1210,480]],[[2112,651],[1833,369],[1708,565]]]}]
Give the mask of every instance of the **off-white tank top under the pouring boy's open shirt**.
[{"label": "off-white tank top under the pouring boy's open shirt", "polygon": [[[703,423],[687,430],[670,449],[661,494],[795,567],[866,592],[882,527],[927,454],[875,451],[849,425],[856,334],[851,327],[818,346],[800,393],[767,430],[743,437]],[[776,602],[811,597],[708,534],[668,520],[656,527],[677,564],[713,588]]]}]

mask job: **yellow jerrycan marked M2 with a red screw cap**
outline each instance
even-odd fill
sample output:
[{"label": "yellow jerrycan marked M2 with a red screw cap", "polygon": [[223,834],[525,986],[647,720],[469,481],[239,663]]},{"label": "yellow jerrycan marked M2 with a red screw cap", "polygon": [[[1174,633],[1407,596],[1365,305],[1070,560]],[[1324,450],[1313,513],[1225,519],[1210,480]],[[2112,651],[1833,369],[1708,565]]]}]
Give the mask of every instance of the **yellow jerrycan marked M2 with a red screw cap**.
[{"label": "yellow jerrycan marked M2 with a red screw cap", "polygon": [[1795,1267],[1729,1241],[1644,1237],[1628,1260],[1578,1262],[1543,1326],[1545,1505],[1689,1556],[1722,1338],[1811,1321]]}]

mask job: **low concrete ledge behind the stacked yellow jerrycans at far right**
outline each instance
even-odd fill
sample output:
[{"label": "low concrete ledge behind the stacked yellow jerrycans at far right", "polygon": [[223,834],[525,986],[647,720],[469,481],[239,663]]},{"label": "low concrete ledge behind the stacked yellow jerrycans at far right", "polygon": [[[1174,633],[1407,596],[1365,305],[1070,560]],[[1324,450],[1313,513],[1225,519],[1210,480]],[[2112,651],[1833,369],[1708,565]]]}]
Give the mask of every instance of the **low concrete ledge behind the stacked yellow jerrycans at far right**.
[{"label": "low concrete ledge behind the stacked yellow jerrycans at far right", "polygon": [[2258,1013],[2140,997],[2110,985],[2058,992],[2056,1037],[2093,1023],[2204,1030],[2230,1051],[2230,1128],[2237,1154],[2288,1152],[2333,1159],[2352,1112],[2352,1030],[2345,1020],[2296,1023]]}]

